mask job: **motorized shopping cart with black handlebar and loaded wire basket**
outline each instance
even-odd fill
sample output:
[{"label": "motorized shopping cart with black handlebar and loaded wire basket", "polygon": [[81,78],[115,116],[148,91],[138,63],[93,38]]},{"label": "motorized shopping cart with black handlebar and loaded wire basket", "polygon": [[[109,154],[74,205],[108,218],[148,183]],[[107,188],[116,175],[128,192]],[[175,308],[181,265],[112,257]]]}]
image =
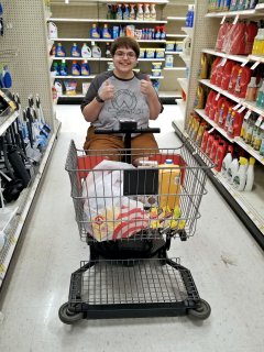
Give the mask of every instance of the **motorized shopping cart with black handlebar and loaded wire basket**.
[{"label": "motorized shopping cart with black handlebar and loaded wire basket", "polygon": [[[72,274],[59,319],[68,324],[127,317],[207,319],[210,306],[200,298],[190,271],[167,252],[172,239],[187,241],[195,234],[207,170],[213,165],[196,146],[190,150],[188,140],[175,148],[141,151],[131,150],[131,133],[156,129],[131,130],[124,123],[119,132],[129,147],[116,153],[77,150],[73,141],[69,145],[66,170],[90,258]],[[173,166],[165,164],[168,160]]]}]

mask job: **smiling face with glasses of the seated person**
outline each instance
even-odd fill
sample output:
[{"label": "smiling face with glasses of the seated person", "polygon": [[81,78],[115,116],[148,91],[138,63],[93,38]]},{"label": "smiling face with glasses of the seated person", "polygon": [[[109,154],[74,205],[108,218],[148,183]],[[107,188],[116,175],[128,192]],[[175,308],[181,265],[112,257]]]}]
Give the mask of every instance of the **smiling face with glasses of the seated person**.
[{"label": "smiling face with glasses of the seated person", "polygon": [[133,77],[132,69],[136,64],[136,54],[130,47],[119,47],[113,55],[113,73],[119,78],[129,79]]}]

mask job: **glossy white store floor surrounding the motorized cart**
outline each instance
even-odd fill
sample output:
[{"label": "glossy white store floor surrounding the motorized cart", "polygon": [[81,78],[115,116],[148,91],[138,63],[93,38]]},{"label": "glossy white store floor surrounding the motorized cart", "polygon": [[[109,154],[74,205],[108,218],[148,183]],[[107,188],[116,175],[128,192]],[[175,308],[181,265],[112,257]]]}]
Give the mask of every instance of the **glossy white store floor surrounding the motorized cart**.
[{"label": "glossy white store floor surrounding the motorized cart", "polygon": [[[0,296],[0,351],[262,352],[263,252],[208,183],[197,232],[175,240],[169,256],[190,268],[199,294],[212,307],[201,322],[188,317],[81,321],[57,316],[67,300],[70,273],[88,248],[80,242],[64,170],[69,140],[81,147],[87,124],[78,106],[58,106],[62,129],[40,197]],[[165,106],[155,125],[161,146],[178,144],[172,128],[177,107]]]}]

